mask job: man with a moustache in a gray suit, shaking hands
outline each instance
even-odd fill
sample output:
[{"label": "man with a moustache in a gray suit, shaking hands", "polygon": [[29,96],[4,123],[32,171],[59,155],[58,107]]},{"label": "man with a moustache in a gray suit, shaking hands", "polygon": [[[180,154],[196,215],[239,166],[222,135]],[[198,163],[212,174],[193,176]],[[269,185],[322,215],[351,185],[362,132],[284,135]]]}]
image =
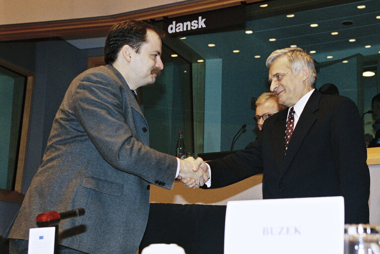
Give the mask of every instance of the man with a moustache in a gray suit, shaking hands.
[{"label": "man with a moustache in a gray suit, shaking hands", "polygon": [[59,253],[135,254],[149,214],[150,184],[172,189],[176,177],[202,186],[195,160],[150,148],[149,128],[134,90],[163,69],[161,31],[142,21],[115,25],[104,46],[105,66],[71,83],[57,112],[42,164],[10,227],[10,253],[27,253],[39,213],[83,207],[61,221]]}]

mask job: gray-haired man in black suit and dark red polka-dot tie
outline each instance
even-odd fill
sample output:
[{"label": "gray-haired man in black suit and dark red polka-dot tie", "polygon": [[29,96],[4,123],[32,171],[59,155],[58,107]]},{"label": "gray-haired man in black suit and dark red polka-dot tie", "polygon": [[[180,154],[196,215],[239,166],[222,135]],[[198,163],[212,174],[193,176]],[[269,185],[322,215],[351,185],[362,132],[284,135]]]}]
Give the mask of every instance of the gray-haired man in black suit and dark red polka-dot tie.
[{"label": "gray-haired man in black suit and dark red polka-dot tie", "polygon": [[268,118],[245,149],[209,162],[206,184],[220,188],[263,172],[263,198],[343,196],[345,222],[368,223],[370,175],[355,103],[314,89],[313,59],[302,49],[276,50],[266,64],[270,90],[287,109]]}]

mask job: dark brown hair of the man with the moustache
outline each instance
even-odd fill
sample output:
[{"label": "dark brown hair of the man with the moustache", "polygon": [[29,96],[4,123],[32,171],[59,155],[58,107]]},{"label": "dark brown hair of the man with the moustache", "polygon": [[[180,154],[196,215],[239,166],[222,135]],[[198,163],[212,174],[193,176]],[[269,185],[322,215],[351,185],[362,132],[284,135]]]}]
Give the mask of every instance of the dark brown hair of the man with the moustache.
[{"label": "dark brown hair of the man with the moustache", "polygon": [[127,20],[114,25],[104,44],[104,62],[113,64],[124,45],[129,45],[139,53],[141,46],[147,41],[147,30],[152,30],[160,38],[164,37],[160,29],[144,21]]}]

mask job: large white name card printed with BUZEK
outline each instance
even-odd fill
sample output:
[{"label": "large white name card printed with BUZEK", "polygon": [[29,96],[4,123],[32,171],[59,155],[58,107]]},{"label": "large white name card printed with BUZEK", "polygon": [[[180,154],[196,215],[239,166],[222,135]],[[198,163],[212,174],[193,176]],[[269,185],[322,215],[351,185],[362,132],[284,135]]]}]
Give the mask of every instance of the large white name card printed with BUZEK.
[{"label": "large white name card printed with BUZEK", "polygon": [[343,247],[341,196],[227,203],[225,254],[339,254]]}]

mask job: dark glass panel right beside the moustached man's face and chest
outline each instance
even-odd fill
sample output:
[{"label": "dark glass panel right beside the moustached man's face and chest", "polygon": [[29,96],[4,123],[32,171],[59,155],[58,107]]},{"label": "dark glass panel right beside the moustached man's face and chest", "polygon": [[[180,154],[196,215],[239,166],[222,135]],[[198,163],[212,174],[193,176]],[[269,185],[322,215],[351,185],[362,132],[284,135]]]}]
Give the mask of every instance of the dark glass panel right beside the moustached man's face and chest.
[{"label": "dark glass panel right beside the moustached man's face and chest", "polygon": [[149,125],[150,146],[175,155],[178,132],[186,151],[194,152],[191,64],[162,45],[164,69],[153,85],[142,87],[142,110]]}]

